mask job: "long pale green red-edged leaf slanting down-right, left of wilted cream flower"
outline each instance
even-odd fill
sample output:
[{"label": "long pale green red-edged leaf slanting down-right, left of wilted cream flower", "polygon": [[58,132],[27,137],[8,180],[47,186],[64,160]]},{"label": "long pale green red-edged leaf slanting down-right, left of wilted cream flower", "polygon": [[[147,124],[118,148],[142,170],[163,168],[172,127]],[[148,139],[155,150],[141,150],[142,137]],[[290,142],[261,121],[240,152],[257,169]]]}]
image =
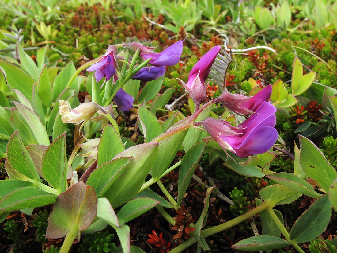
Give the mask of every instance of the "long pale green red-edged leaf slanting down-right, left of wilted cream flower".
[{"label": "long pale green red-edged leaf slanting down-right, left of wilted cream flower", "polygon": [[13,103],[16,105],[21,115],[25,118],[30,129],[33,131],[37,143],[40,145],[48,146],[50,144],[49,136],[37,114],[23,104],[20,104],[18,102]]}]

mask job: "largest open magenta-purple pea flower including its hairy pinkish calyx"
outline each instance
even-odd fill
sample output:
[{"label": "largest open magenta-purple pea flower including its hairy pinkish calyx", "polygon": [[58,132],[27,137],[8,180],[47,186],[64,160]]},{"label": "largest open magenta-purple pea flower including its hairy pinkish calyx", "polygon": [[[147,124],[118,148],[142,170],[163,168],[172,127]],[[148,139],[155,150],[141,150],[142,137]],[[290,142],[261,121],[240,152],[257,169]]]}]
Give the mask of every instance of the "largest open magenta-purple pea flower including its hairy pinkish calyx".
[{"label": "largest open magenta-purple pea flower including its hairy pinkish calyx", "polygon": [[240,157],[262,154],[268,151],[277,140],[277,130],[274,128],[276,108],[264,101],[255,112],[242,122],[237,130],[232,129],[237,135],[229,135],[227,128],[219,130],[214,127],[215,121],[220,126],[223,124],[220,119],[206,118],[201,125],[222,148],[229,149]]}]

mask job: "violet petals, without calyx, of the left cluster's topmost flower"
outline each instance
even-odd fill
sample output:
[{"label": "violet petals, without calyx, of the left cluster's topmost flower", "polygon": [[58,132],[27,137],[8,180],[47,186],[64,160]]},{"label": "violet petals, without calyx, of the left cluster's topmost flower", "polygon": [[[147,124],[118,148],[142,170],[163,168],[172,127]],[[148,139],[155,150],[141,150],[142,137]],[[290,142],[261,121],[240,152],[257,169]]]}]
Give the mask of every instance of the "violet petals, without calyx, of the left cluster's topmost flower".
[{"label": "violet petals, without calyx, of the left cluster's topmost flower", "polygon": [[173,66],[179,62],[182,52],[183,52],[183,43],[182,41],[178,41],[175,44],[164,49],[160,53],[142,54],[142,56],[146,60],[152,58],[149,64],[157,67]]}]

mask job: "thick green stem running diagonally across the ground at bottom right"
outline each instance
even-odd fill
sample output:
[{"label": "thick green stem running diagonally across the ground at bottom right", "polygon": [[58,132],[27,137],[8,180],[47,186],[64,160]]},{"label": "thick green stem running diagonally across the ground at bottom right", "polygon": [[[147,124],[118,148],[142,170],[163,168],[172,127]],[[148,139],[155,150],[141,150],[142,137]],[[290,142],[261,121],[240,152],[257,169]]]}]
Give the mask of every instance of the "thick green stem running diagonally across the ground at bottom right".
[{"label": "thick green stem running diagonally across the ground at bottom right", "polygon": [[[233,220],[227,221],[225,223],[222,223],[220,225],[217,225],[215,227],[212,228],[207,228],[204,230],[201,230],[201,236],[203,236],[204,238],[221,232],[225,229],[231,228],[237,224],[240,224],[241,222],[244,222],[245,220],[247,220],[248,218],[254,216],[255,214],[267,209],[267,208],[271,208],[269,206],[270,204],[268,202],[264,202],[263,204],[255,207],[254,209],[251,209],[250,211],[241,214],[240,216],[234,218]],[[195,236],[190,237],[186,242],[180,244],[179,246],[177,246],[176,248],[174,248],[173,250],[169,251],[169,252],[182,252],[184,249],[186,249],[187,247],[191,246],[192,244],[196,243],[196,238]]]}]

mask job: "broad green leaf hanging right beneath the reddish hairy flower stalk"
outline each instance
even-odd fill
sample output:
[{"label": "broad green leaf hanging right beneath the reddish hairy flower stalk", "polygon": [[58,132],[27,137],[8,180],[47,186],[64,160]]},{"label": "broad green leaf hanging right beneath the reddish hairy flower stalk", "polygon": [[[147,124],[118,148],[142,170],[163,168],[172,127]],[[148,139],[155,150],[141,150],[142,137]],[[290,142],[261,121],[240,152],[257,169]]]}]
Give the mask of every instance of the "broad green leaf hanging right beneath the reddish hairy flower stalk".
[{"label": "broad green leaf hanging right beneath the reddish hairy flower stalk", "polygon": [[152,167],[152,178],[158,180],[161,174],[170,166],[184,140],[187,131],[174,134],[159,142],[159,152],[156,165]]}]

